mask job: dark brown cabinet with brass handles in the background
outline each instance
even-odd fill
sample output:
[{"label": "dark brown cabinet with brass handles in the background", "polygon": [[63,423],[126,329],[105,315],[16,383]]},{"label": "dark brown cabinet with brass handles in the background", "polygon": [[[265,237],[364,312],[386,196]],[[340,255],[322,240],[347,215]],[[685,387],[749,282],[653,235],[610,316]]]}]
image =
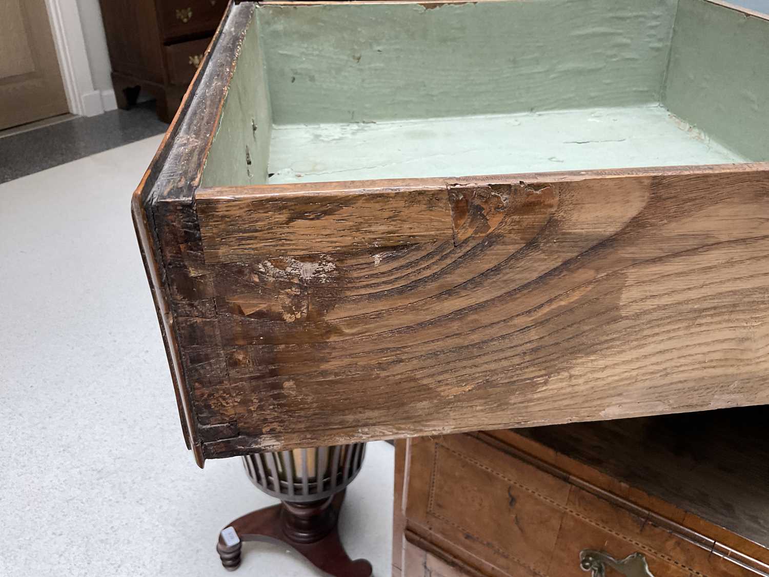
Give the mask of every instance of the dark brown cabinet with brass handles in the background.
[{"label": "dark brown cabinet with brass handles in the background", "polygon": [[171,122],[195,75],[227,0],[100,0],[120,108],[140,90],[158,102]]}]

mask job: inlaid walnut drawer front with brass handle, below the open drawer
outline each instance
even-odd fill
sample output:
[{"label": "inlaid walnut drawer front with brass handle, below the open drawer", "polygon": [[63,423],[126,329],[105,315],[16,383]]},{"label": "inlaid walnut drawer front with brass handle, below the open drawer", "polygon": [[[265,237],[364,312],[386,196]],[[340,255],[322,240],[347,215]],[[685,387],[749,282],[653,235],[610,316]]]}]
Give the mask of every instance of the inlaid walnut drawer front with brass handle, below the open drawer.
[{"label": "inlaid walnut drawer front with brass handle, below the open drawer", "polygon": [[765,575],[724,559],[701,535],[673,532],[643,509],[469,435],[414,439],[409,462],[409,528],[490,575],[584,577],[584,549],[614,559],[638,552],[655,577]]}]

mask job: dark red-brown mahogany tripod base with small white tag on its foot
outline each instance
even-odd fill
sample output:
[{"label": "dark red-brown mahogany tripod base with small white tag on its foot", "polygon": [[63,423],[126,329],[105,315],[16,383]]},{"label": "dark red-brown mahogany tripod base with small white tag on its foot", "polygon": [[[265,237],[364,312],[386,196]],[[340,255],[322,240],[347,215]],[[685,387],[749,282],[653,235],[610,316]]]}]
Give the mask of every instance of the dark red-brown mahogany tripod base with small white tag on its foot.
[{"label": "dark red-brown mahogany tripod base with small white tag on its foot", "polygon": [[[259,509],[231,522],[232,532],[219,534],[216,550],[225,569],[234,571],[241,562],[241,547],[245,541],[281,542],[291,546],[313,565],[334,577],[371,577],[371,563],[365,559],[352,561],[342,548],[337,532],[339,509],[345,492],[321,502],[281,502]],[[228,545],[228,541],[231,543]]]}]

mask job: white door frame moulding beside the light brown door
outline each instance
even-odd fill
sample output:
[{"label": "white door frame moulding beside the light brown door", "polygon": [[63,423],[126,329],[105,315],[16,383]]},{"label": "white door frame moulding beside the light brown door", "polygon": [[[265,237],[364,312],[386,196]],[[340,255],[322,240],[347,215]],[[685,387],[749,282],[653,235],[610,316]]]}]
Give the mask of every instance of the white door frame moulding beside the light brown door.
[{"label": "white door frame moulding beside the light brown door", "polygon": [[118,108],[115,91],[94,88],[76,0],[45,0],[69,112],[95,116]]}]

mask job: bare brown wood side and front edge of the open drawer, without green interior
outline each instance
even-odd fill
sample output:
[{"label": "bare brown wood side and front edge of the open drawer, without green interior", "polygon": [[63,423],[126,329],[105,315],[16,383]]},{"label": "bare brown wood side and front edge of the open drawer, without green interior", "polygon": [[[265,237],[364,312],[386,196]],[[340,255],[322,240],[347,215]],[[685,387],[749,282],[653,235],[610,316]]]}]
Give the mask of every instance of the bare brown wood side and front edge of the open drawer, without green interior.
[{"label": "bare brown wood side and front edge of the open drawer, without green interior", "polygon": [[254,11],[134,198],[198,463],[769,402],[769,165],[201,188]]}]

